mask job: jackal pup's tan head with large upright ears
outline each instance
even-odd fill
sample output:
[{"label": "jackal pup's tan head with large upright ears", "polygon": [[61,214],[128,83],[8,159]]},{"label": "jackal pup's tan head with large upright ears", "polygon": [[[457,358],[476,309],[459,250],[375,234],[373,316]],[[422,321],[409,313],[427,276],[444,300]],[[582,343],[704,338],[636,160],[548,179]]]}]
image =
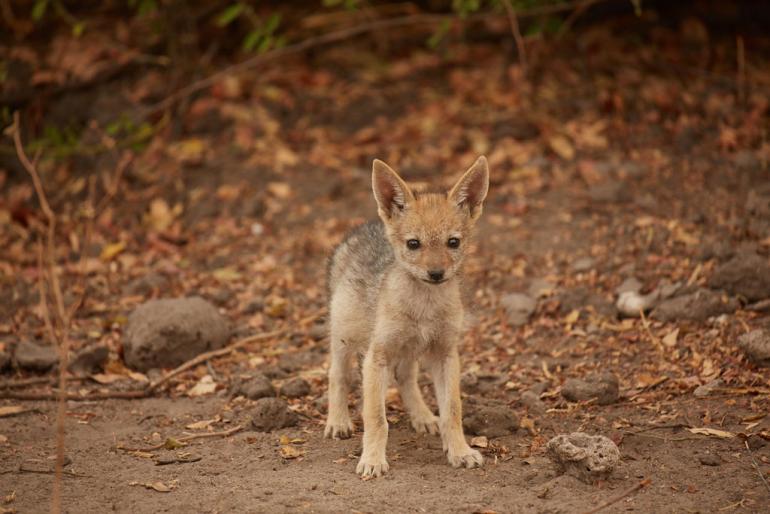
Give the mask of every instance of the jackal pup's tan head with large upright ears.
[{"label": "jackal pup's tan head with large upright ears", "polygon": [[372,189],[398,264],[429,284],[454,277],[489,189],[487,159],[479,157],[448,193],[413,191],[375,159]]}]

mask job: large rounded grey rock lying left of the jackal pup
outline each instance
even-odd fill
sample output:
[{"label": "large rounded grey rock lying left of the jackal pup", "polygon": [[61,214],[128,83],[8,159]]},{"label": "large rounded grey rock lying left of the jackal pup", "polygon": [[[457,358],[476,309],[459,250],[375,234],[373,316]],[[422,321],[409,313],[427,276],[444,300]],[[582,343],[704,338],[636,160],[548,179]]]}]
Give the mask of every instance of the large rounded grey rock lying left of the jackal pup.
[{"label": "large rounded grey rock lying left of the jackal pup", "polygon": [[223,347],[229,338],[227,320],[200,297],[151,300],[129,316],[123,354],[140,371],[170,368]]}]

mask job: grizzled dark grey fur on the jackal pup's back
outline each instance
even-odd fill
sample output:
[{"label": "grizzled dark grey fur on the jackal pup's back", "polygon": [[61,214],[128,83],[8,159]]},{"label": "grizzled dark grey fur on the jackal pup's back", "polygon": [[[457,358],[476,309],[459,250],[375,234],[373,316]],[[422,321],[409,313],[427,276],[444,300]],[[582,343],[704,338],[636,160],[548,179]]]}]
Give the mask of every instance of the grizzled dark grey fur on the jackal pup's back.
[{"label": "grizzled dark grey fur on the jackal pup's back", "polygon": [[375,303],[382,277],[393,260],[393,249],[381,220],[356,227],[332,254],[328,276],[329,297],[345,287],[367,304]]}]

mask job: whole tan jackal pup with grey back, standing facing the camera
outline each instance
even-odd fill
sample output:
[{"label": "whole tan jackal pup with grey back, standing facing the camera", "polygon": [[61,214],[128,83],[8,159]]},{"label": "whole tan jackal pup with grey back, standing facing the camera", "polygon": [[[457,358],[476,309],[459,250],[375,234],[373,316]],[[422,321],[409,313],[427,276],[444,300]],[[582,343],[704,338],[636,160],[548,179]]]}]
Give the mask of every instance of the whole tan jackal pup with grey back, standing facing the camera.
[{"label": "whole tan jackal pup with grey back, standing facing the camera", "polygon": [[[385,391],[395,374],[417,432],[441,433],[454,467],[480,466],[462,427],[460,359],[463,326],[460,269],[489,188],[485,157],[448,193],[413,191],[375,160],[372,189],[380,219],[354,229],[329,269],[331,365],[326,437],[353,431],[348,392],[355,356],[363,356],[363,453],[356,472],[388,471]],[[432,377],[439,417],[417,386],[419,361]]]}]

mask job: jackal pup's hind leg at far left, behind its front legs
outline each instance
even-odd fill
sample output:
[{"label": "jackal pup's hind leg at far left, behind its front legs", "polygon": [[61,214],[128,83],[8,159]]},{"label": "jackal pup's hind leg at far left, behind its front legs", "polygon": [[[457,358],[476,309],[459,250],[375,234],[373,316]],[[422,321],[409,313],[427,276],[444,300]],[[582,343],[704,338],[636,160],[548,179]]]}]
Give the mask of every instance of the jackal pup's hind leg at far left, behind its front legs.
[{"label": "jackal pup's hind leg at far left, behind its front legs", "polygon": [[348,394],[352,377],[353,349],[345,340],[331,334],[331,362],[329,364],[329,413],[326,417],[324,437],[347,439],[353,433],[350,420]]}]

